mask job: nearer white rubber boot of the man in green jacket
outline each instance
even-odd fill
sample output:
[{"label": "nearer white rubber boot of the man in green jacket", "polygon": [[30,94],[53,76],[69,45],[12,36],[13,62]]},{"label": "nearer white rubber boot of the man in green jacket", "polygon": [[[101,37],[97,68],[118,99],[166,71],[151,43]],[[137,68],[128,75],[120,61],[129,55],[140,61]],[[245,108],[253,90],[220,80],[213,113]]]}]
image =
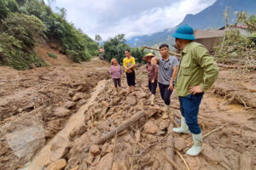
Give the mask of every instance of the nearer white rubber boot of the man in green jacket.
[{"label": "nearer white rubber boot of the man in green jacket", "polygon": [[188,156],[198,156],[201,152],[202,136],[200,134],[192,133],[193,146],[186,152]]}]

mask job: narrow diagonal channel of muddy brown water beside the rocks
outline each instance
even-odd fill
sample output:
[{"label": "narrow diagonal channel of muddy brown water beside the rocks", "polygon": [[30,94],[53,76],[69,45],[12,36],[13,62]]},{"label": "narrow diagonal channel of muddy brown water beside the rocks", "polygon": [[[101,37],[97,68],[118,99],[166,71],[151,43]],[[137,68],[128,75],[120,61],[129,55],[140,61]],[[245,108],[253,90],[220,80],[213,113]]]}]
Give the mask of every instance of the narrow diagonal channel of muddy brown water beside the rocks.
[{"label": "narrow diagonal channel of muddy brown water beside the rocks", "polygon": [[62,153],[69,144],[69,135],[73,132],[75,127],[84,124],[84,111],[88,110],[89,106],[93,104],[97,95],[105,87],[105,80],[98,82],[95,91],[91,94],[88,102],[80,107],[79,111],[70,117],[66,126],[55,135],[48,144],[39,151],[38,155],[25,167],[27,170],[41,170],[45,165],[48,165],[52,161],[56,161],[61,158]]}]

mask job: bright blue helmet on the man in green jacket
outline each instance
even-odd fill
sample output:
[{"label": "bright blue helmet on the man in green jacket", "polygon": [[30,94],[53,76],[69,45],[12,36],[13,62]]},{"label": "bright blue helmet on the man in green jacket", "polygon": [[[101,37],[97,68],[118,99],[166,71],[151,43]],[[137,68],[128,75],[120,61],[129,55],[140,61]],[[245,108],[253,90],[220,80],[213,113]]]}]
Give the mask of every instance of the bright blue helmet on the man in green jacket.
[{"label": "bright blue helmet on the man in green jacket", "polygon": [[184,40],[195,40],[194,30],[191,26],[179,26],[172,37]]}]

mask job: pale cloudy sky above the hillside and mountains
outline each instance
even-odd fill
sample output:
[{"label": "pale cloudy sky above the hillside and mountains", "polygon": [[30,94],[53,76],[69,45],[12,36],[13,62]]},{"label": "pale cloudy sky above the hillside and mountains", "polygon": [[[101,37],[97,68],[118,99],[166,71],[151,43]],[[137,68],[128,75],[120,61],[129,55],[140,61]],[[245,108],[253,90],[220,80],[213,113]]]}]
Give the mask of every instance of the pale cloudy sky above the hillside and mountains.
[{"label": "pale cloudy sky above the hillside and mountains", "polygon": [[216,0],[55,0],[67,9],[67,20],[94,39],[148,35],[177,26],[186,14],[197,14]]}]

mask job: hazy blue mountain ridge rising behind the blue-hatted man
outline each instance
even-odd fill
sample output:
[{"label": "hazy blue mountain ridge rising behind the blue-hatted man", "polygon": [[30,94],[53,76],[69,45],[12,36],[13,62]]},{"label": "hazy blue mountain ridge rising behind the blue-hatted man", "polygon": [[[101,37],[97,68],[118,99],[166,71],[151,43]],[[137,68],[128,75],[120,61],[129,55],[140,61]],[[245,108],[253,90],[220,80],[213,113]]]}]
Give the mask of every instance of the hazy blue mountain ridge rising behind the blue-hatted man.
[{"label": "hazy blue mountain ridge rising behind the blue-hatted man", "polygon": [[[230,10],[230,24],[236,22],[235,11],[247,11],[248,14],[256,14],[255,0],[244,0],[242,3],[240,0],[217,0],[210,7],[203,9],[198,14],[187,14],[177,26],[189,25],[194,29],[202,30],[218,29],[225,24],[223,14],[226,7]],[[151,35],[131,37],[127,40],[127,43],[131,47],[141,47],[143,45],[154,46],[163,42],[171,44],[173,42],[172,33],[177,29],[177,26],[155,32]]]}]

